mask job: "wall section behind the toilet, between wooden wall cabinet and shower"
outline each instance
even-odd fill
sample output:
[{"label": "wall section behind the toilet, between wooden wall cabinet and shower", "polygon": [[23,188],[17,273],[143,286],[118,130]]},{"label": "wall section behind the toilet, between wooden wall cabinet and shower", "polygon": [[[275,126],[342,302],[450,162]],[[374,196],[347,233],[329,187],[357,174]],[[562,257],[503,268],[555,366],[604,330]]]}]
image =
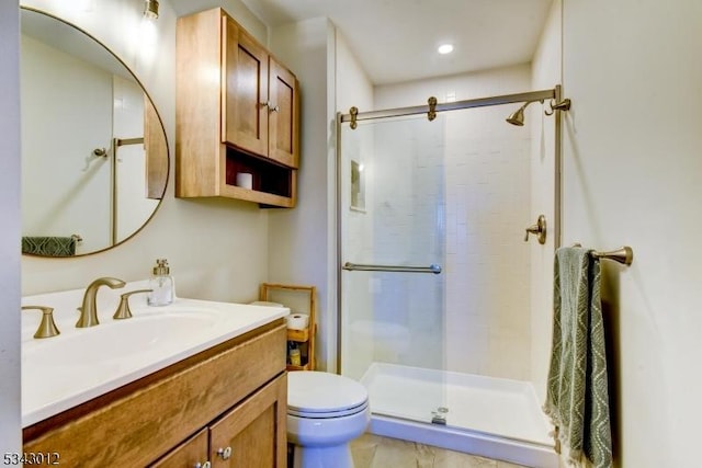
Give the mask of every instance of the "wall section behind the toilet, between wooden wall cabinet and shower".
[{"label": "wall section behind the toilet, between wooden wall cabinet and shower", "polygon": [[301,82],[303,115],[297,206],[271,210],[268,249],[270,281],[317,287],[317,362],[331,359],[336,336],[333,282],[333,27],[325,18],[271,31],[271,52]]}]

